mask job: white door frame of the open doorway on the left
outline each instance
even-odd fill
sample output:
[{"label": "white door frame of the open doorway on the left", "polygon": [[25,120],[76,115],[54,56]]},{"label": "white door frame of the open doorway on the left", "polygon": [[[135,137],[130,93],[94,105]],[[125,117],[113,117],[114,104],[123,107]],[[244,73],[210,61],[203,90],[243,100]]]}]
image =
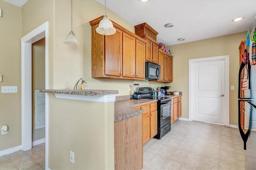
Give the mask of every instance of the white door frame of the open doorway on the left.
[{"label": "white door frame of the open doorway on the left", "polygon": [[[45,88],[49,88],[48,64],[48,30],[49,23],[45,22],[21,39],[21,130],[23,151],[32,148],[32,43],[45,38]],[[45,167],[48,169],[48,130],[49,130],[49,101],[45,94]]]}]

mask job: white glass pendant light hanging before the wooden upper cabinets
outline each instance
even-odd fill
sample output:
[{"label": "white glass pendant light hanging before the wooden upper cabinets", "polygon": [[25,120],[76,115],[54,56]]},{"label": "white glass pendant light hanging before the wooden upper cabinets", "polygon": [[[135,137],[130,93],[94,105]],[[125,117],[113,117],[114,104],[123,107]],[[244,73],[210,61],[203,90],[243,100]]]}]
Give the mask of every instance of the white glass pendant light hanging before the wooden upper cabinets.
[{"label": "white glass pendant light hanging before the wooden upper cabinets", "polygon": [[102,34],[106,36],[116,33],[116,29],[114,28],[112,22],[108,19],[108,16],[107,16],[106,0],[105,0],[105,16],[100,21],[98,28],[96,28],[96,32],[98,32],[98,34]]}]

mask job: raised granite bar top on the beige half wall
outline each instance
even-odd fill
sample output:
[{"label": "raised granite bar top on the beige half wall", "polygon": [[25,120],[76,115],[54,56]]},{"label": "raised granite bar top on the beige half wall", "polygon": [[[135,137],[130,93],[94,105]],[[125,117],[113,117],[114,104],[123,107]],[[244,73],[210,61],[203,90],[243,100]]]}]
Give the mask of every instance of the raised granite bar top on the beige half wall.
[{"label": "raised granite bar top on the beige half wall", "polygon": [[99,95],[118,94],[118,90],[49,89],[49,90],[40,90],[40,92],[41,93],[65,94],[65,95],[86,95],[86,96],[99,96]]}]

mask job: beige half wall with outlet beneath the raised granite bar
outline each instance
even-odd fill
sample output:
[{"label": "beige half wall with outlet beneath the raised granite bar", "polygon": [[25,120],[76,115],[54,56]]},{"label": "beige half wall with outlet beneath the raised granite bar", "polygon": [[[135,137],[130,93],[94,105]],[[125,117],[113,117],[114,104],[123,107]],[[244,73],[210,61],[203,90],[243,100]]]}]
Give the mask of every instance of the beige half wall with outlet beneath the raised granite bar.
[{"label": "beige half wall with outlet beneath the raised granite bar", "polygon": [[[49,167],[114,169],[114,103],[49,97]],[[75,153],[75,164],[70,162],[70,150]]]}]

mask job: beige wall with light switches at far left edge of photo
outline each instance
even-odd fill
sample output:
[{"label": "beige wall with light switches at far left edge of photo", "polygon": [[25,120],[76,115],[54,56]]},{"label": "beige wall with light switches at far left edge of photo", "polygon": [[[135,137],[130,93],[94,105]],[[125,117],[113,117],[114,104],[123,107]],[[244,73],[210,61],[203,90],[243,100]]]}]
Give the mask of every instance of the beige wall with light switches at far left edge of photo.
[{"label": "beige wall with light switches at far left edge of photo", "polygon": [[0,93],[0,127],[8,126],[8,134],[0,134],[0,150],[21,144],[21,9],[0,0],[0,86],[18,86],[18,93]]}]

